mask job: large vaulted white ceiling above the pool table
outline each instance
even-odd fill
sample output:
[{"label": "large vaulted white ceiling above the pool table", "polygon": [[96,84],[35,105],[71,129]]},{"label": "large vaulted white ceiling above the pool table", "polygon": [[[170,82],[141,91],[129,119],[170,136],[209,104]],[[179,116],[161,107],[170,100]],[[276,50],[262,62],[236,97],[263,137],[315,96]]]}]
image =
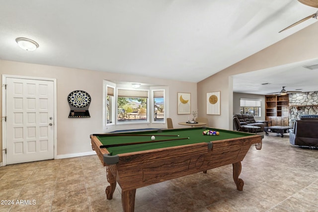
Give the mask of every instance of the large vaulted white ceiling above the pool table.
[{"label": "large vaulted white ceiling above the pool table", "polygon": [[198,82],[316,11],[297,0],[0,0],[0,59]]}]

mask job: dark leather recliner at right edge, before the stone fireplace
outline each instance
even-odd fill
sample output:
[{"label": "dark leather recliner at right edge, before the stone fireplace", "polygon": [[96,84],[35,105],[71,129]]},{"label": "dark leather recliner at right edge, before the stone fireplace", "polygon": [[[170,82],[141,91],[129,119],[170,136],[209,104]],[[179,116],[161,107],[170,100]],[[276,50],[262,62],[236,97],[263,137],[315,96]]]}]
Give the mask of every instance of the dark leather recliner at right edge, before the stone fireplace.
[{"label": "dark leather recliner at right edge, before the stone fireplace", "polygon": [[318,148],[318,116],[305,115],[289,130],[289,142],[300,147]]}]

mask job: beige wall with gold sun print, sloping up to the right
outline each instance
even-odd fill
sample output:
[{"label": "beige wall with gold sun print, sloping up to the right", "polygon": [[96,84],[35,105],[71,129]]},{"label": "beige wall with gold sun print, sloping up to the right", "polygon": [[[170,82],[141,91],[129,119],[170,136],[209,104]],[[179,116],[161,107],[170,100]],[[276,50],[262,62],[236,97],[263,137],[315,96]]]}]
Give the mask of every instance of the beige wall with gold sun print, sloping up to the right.
[{"label": "beige wall with gold sun print, sloping up to the right", "polygon": [[[315,23],[239,63],[200,81],[197,84],[198,102],[200,103],[198,104],[199,116],[207,117],[211,126],[222,129],[233,129],[233,80],[231,76],[315,59],[318,57],[317,34],[318,23]],[[221,115],[206,115],[206,93],[212,91],[221,91]]]}]

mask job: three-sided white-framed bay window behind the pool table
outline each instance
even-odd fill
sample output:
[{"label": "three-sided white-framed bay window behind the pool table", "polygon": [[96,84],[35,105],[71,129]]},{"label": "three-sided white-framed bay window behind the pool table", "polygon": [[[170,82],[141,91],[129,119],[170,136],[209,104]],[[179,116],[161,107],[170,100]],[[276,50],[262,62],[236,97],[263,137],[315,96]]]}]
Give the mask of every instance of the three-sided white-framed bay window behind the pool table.
[{"label": "three-sided white-framed bay window behind the pool table", "polygon": [[168,87],[130,87],[131,83],[118,84],[103,80],[103,130],[123,124],[165,123]]}]

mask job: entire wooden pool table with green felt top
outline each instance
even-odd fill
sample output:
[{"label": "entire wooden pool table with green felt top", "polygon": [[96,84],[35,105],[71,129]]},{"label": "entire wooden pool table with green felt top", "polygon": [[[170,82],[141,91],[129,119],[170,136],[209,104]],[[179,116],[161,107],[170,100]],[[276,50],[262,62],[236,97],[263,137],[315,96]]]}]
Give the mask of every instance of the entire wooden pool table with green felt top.
[{"label": "entire wooden pool table with green felt top", "polygon": [[[219,135],[203,135],[206,130]],[[122,189],[124,212],[134,211],[137,188],[228,164],[233,164],[233,179],[242,191],[240,161],[252,144],[261,149],[262,143],[257,134],[207,127],[92,134],[90,139],[92,149],[106,166],[110,184],[106,188],[107,199],[112,199],[117,181]]]}]

